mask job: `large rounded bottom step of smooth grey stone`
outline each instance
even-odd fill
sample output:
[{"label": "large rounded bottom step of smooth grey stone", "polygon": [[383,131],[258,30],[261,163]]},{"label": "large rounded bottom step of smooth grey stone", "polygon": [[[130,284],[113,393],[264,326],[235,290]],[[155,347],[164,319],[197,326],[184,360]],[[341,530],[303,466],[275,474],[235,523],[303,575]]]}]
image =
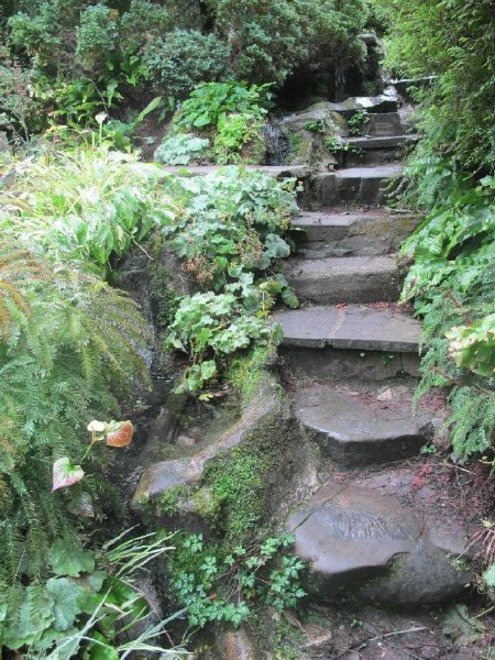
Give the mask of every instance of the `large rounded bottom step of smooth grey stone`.
[{"label": "large rounded bottom step of smooth grey stone", "polygon": [[397,606],[461,592],[469,572],[453,560],[463,551],[464,531],[450,519],[427,520],[399,496],[358,479],[321,488],[287,522],[296,554],[310,562],[311,593],[320,600],[352,593]]}]

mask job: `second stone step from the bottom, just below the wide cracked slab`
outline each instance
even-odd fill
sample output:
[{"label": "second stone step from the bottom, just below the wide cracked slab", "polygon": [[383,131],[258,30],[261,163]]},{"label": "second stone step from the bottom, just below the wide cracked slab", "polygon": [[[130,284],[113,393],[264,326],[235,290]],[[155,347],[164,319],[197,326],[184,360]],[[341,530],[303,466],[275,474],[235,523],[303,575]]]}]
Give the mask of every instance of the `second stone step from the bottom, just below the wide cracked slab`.
[{"label": "second stone step from the bottom, just below the wide cracked slab", "polygon": [[294,413],[323,455],[343,468],[417,455],[432,435],[431,411],[413,413],[416,381],[311,384],[294,395]]}]

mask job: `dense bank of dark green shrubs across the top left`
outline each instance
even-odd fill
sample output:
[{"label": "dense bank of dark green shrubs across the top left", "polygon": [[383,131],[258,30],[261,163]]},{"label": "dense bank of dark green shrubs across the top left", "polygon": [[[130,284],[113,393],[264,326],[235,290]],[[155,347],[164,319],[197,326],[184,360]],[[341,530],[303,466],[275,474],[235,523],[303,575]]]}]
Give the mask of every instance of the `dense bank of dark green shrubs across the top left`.
[{"label": "dense bank of dark green shrubs across the top left", "polygon": [[337,62],[363,62],[367,15],[366,0],[12,1],[0,22],[0,88],[11,92],[0,125],[29,134],[99,111],[132,123],[152,95],[172,109],[201,82],[280,87],[300,66],[324,80]]}]

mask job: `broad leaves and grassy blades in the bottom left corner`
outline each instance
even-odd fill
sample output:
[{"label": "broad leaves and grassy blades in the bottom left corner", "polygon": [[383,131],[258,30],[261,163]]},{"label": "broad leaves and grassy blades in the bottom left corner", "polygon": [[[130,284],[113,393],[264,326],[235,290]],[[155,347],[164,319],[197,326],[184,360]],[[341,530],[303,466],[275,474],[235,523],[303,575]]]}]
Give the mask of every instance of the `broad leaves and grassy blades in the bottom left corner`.
[{"label": "broad leaves and grassy blades in the bottom left corner", "polygon": [[117,641],[121,630],[150,614],[146,600],[133,584],[136,572],[173,549],[166,544],[169,535],[127,538],[129,531],[107,541],[97,552],[69,540],[55,542],[47,558],[52,576],[44,586],[22,587],[14,601],[9,601],[8,594],[0,596],[4,647],[28,647],[31,658],[53,660],[76,657],[81,650],[89,657],[105,658],[118,658],[119,652],[124,657],[125,651],[140,647],[167,652],[151,639],[177,615],[161,622],[157,630],[147,630],[142,639]]}]

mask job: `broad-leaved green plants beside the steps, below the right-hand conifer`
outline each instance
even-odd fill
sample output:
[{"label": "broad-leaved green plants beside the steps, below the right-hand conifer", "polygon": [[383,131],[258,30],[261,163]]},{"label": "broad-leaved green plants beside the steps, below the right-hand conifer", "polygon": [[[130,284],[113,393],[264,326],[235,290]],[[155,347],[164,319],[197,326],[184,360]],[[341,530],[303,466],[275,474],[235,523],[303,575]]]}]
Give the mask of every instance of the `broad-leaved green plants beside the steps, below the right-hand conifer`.
[{"label": "broad-leaved green plants beside the steps, below the right-hand conifer", "polygon": [[418,396],[450,385],[454,455],[490,451],[495,429],[494,180],[484,178],[427,217],[406,242],[414,257],[403,299],[424,317],[428,352]]}]

